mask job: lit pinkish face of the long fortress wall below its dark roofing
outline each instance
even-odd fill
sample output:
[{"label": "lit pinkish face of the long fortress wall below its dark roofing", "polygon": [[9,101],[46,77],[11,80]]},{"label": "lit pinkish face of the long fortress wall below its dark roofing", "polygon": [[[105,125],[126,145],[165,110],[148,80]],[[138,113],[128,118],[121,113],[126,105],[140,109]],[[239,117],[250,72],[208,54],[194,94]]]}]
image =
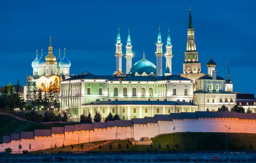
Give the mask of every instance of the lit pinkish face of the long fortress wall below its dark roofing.
[{"label": "lit pinkish face of the long fortress wall below its dark roofing", "polygon": [[[230,127],[230,133],[256,133],[256,120],[245,120],[239,118],[198,118],[198,119],[173,119],[173,121],[158,121],[157,123],[132,124],[133,127],[107,127],[94,130],[80,130],[79,143],[95,142],[101,140],[127,139],[133,137],[140,140],[141,137],[155,137],[159,134],[175,132],[226,132],[226,127]],[[64,144],[78,144],[78,131],[64,132],[63,134],[52,134],[51,136],[34,136],[34,139],[11,140],[9,143],[0,145],[0,152],[5,148],[12,148],[13,152],[18,151],[19,143],[23,150],[31,151],[54,148]],[[54,149],[53,149],[54,150]]]}]

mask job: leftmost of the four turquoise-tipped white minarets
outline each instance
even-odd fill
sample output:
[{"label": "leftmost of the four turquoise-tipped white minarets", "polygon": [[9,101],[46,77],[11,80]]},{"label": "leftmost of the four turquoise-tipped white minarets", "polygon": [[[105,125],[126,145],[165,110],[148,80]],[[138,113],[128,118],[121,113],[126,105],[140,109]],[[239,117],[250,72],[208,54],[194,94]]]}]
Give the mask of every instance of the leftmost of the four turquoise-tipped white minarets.
[{"label": "leftmost of the four turquoise-tipped white minarets", "polygon": [[118,33],[117,33],[117,39],[116,39],[116,72],[119,71],[119,68],[122,70],[122,43],[121,43],[121,36],[120,36],[120,30],[118,26]]}]

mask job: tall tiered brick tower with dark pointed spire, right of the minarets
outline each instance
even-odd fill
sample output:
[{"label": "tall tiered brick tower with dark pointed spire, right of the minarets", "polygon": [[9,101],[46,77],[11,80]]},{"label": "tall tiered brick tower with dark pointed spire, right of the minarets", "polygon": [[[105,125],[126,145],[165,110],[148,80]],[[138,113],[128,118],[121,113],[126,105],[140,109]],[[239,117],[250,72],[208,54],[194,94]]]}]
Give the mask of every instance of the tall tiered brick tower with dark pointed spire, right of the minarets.
[{"label": "tall tiered brick tower with dark pointed spire, right of the minarets", "polygon": [[[204,76],[201,73],[201,63],[198,61],[198,51],[195,47],[195,32],[192,24],[191,8],[189,6],[189,27],[187,29],[187,47],[185,51],[185,62],[183,63],[182,77],[189,78],[194,81]],[[196,85],[194,85],[194,91]]]}]

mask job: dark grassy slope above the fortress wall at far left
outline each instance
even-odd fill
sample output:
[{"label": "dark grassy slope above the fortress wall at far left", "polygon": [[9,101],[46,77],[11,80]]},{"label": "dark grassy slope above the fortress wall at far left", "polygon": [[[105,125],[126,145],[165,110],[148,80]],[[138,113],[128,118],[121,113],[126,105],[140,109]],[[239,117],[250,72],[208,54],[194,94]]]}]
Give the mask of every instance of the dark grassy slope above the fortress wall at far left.
[{"label": "dark grassy slope above the fortress wall at far left", "polygon": [[52,127],[64,127],[65,125],[74,124],[34,124],[30,122],[19,121],[8,115],[0,115],[0,144],[3,143],[3,136],[10,136],[11,133],[19,133],[19,125],[21,131],[34,131],[35,129],[51,129]]}]

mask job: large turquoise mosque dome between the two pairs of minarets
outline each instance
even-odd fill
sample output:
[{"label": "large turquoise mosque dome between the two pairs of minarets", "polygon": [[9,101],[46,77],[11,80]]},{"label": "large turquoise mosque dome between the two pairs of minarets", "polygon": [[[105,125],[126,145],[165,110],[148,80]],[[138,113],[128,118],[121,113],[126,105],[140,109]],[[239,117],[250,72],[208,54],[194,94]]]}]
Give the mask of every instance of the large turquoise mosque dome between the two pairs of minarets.
[{"label": "large turquoise mosque dome between the two pairs of minarets", "polygon": [[156,66],[152,62],[143,58],[131,67],[130,72],[131,74],[135,74],[137,72],[138,75],[142,75],[143,72],[147,75],[151,73],[156,74]]}]

